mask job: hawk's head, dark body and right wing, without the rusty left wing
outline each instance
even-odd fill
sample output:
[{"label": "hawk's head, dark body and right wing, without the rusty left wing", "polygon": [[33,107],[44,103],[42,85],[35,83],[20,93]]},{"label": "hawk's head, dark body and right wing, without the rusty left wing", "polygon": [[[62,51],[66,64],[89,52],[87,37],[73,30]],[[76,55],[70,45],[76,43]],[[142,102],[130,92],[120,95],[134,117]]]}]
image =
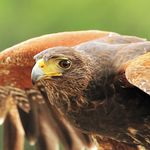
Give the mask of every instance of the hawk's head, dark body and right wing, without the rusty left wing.
[{"label": "hawk's head, dark body and right wing, without the rusty left wing", "polygon": [[97,142],[150,149],[150,42],[112,33],[34,59],[32,80],[50,109]]}]

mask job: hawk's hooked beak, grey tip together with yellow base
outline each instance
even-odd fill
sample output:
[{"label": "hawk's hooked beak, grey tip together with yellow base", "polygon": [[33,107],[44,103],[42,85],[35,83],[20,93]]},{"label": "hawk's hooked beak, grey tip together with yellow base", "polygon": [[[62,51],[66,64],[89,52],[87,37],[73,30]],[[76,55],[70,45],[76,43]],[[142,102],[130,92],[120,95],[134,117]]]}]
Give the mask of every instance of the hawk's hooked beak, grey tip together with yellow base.
[{"label": "hawk's hooked beak, grey tip together with yellow base", "polygon": [[33,83],[42,78],[51,78],[53,76],[62,76],[62,69],[59,68],[57,59],[50,59],[47,62],[43,58],[39,59],[31,73]]}]

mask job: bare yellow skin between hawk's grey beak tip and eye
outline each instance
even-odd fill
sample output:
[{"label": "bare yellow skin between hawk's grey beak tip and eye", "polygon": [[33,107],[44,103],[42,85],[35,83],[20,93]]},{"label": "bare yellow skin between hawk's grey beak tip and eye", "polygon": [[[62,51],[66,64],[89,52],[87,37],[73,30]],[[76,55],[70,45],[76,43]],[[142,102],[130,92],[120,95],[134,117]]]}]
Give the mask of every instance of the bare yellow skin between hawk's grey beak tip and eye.
[{"label": "bare yellow skin between hawk's grey beak tip and eye", "polygon": [[58,66],[59,61],[60,60],[56,58],[44,61],[42,58],[37,61],[37,64],[47,76],[62,76],[63,70]]}]

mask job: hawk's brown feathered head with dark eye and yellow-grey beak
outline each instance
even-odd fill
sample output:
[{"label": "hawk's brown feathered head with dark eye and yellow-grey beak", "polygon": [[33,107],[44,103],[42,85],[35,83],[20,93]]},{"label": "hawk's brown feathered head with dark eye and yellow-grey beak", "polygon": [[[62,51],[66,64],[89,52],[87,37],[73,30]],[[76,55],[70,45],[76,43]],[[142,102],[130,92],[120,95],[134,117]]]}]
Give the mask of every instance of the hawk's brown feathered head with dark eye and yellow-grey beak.
[{"label": "hawk's brown feathered head with dark eye and yellow-grey beak", "polygon": [[35,57],[33,82],[45,87],[52,103],[81,95],[90,79],[89,59],[70,47],[47,49]]}]

